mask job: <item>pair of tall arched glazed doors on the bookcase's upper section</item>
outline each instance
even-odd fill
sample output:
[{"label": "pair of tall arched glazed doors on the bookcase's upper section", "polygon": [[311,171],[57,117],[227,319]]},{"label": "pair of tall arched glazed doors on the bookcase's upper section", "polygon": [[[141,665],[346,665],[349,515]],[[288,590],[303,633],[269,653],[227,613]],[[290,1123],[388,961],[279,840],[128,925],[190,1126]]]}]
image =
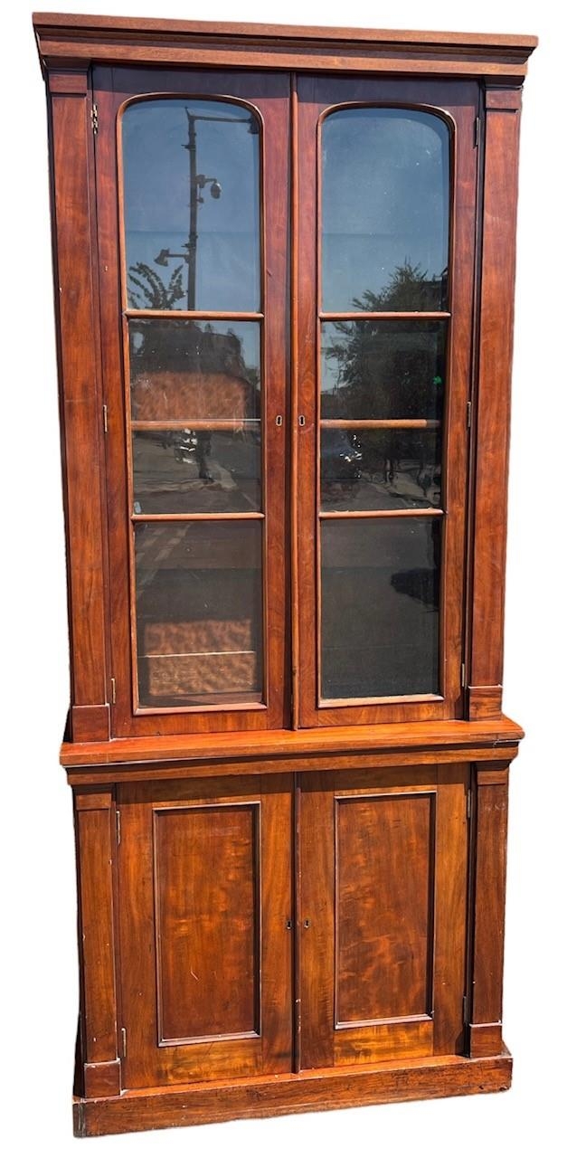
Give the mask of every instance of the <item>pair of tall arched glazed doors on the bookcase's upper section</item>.
[{"label": "pair of tall arched glazed doors on the bookcase's upper section", "polygon": [[93,98],[111,734],[462,718],[478,85]]}]

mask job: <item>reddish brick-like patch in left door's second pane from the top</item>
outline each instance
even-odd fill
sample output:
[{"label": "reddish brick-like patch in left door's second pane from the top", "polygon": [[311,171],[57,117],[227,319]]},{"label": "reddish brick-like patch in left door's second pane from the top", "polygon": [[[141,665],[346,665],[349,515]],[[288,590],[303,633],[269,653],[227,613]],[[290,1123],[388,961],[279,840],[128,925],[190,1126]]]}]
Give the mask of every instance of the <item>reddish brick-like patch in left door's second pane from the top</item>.
[{"label": "reddish brick-like patch in left door's second pane from the top", "polygon": [[255,390],[243,378],[198,371],[155,371],[132,382],[132,418],[138,422],[186,422],[253,418]]}]

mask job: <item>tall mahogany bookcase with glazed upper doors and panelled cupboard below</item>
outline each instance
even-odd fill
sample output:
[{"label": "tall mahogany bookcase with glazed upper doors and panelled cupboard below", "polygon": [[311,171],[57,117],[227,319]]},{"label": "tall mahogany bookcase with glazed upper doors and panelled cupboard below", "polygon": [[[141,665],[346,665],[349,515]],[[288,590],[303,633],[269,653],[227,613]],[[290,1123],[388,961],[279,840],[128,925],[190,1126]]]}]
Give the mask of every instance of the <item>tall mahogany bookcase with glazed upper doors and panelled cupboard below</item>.
[{"label": "tall mahogany bookcase with glazed upper doors and panelled cupboard below", "polygon": [[79,1135],[503,1090],[533,37],[36,14]]}]

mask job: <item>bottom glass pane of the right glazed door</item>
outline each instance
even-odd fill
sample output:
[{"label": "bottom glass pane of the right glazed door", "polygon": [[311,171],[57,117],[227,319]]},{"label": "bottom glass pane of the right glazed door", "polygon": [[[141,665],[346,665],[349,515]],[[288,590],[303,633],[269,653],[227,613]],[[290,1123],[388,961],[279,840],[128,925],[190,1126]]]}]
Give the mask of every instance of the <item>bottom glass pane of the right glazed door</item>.
[{"label": "bottom glass pane of the right glazed door", "polygon": [[333,519],[322,534],[324,699],[439,692],[439,519]]}]

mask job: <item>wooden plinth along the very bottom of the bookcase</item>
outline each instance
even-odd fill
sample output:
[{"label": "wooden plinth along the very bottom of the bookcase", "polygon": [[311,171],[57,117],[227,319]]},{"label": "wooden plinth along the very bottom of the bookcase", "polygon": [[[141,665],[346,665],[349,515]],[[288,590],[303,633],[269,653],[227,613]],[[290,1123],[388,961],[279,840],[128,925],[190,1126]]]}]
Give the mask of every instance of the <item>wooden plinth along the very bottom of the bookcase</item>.
[{"label": "wooden plinth along the very bottom of the bookcase", "polygon": [[508,1090],[511,1057],[427,1057],[75,1098],[78,1137]]}]

